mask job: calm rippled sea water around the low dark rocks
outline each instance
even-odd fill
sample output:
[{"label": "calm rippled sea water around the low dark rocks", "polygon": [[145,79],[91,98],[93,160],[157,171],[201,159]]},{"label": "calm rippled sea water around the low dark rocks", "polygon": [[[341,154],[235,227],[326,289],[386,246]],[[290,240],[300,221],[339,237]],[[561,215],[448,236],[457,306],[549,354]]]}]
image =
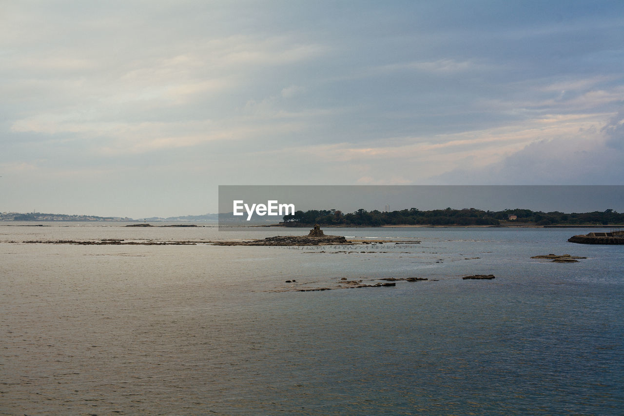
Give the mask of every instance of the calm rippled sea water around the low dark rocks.
[{"label": "calm rippled sea water around the low dark rocks", "polygon": [[[21,244],[307,233],[123,225],[0,225],[0,414],[623,412],[624,246],[566,241],[589,230],[326,230],[421,240],[351,254]],[[587,259],[530,259],[549,253]],[[431,280],[294,291],[343,277]]]}]

